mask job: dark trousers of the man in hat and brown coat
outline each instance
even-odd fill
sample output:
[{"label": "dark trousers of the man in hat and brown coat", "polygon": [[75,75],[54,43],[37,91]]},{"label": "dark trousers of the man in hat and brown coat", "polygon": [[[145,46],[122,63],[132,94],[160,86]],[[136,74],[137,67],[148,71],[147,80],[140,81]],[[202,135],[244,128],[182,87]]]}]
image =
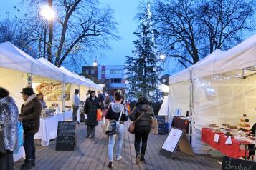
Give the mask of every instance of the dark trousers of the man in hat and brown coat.
[{"label": "dark trousers of the man in hat and brown coat", "polygon": [[33,133],[24,133],[24,150],[26,154],[26,159],[35,159],[36,158],[36,149],[34,148],[34,134]]}]

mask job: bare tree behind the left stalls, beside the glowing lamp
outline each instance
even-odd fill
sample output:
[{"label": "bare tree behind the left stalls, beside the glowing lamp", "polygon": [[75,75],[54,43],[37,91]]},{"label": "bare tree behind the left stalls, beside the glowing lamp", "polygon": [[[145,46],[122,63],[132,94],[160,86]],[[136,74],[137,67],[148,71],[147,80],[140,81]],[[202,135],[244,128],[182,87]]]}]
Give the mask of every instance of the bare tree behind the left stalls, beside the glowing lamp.
[{"label": "bare tree behind the left stalls, beside the glowing lamp", "polygon": [[[52,6],[57,19],[43,21],[39,16],[42,2]],[[73,63],[85,62],[85,54],[110,49],[108,41],[118,39],[113,9],[103,7],[98,0],[31,0],[27,5],[29,15],[21,22],[29,30],[29,38],[34,37],[34,57],[44,56],[56,66],[78,59]],[[43,44],[47,55],[42,55]]]}]

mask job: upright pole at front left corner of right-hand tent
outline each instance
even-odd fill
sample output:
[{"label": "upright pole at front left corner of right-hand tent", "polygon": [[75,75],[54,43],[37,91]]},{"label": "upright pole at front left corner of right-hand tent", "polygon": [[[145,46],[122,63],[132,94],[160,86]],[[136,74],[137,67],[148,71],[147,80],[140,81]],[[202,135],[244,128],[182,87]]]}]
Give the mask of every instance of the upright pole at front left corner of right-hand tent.
[{"label": "upright pole at front left corner of right-hand tent", "polygon": [[194,81],[192,79],[192,69],[190,69],[190,95],[189,95],[189,142],[191,143],[191,115],[194,108]]}]

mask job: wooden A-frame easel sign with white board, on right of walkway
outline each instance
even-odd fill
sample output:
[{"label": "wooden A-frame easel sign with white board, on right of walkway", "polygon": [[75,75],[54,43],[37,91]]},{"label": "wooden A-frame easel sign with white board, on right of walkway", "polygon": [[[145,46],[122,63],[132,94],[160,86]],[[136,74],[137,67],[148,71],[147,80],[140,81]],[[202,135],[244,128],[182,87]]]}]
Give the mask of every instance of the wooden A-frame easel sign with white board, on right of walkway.
[{"label": "wooden A-frame easel sign with white board, on right of walkway", "polygon": [[166,140],[163,143],[160,154],[168,158],[172,158],[174,152],[177,149],[177,146],[179,146],[179,149],[185,154],[194,156],[194,152],[191,149],[189,140],[186,136],[186,131],[172,127]]}]

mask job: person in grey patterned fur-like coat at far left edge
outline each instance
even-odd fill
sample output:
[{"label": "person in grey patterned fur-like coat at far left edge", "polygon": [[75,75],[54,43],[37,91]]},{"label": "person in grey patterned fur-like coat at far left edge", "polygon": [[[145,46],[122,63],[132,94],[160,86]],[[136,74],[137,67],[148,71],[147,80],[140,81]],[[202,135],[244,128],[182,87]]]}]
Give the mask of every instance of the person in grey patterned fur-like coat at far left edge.
[{"label": "person in grey patterned fur-like coat at far left edge", "polygon": [[0,87],[0,129],[5,153],[0,154],[0,169],[14,169],[13,151],[18,139],[18,114],[19,110],[14,99],[9,96],[9,91]]}]

